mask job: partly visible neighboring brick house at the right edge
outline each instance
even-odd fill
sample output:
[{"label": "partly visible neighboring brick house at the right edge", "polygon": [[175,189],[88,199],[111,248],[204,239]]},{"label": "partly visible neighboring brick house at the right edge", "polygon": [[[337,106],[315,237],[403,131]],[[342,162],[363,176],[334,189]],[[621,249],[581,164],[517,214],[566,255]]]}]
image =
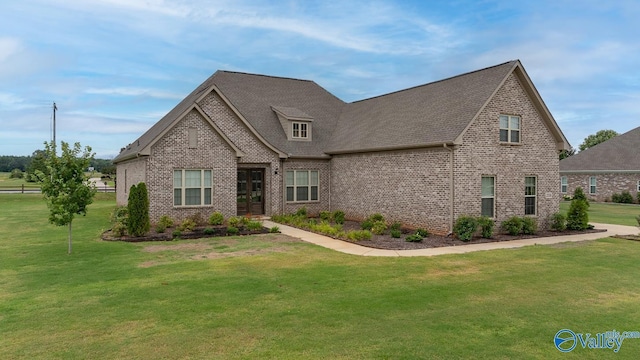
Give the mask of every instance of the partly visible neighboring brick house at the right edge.
[{"label": "partly visible neighboring brick house at the right edge", "polygon": [[560,193],[581,187],[588,198],[610,201],[613,194],[640,192],[640,127],[560,161]]}]

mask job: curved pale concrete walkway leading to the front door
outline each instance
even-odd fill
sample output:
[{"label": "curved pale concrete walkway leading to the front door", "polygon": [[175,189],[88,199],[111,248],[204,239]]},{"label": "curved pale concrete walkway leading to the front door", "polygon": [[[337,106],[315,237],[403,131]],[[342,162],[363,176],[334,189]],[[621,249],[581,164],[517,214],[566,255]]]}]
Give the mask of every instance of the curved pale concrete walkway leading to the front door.
[{"label": "curved pale concrete walkway leading to the front door", "polygon": [[638,228],[634,226],[623,225],[611,225],[611,224],[596,224],[592,223],[596,229],[606,229],[606,232],[579,234],[579,235],[564,235],[564,236],[550,236],[543,238],[511,240],[494,243],[483,244],[469,244],[459,246],[447,246],[440,248],[418,249],[418,250],[383,250],[373,249],[366,246],[360,246],[346,241],[336,240],[328,236],[315,234],[309,231],[300,230],[291,226],[274,223],[269,220],[264,220],[264,226],[271,228],[277,226],[280,228],[280,232],[301,239],[312,244],[326,247],[328,249],[340,251],[346,254],[361,255],[361,256],[435,256],[444,254],[462,254],[472,251],[483,250],[495,250],[495,249],[512,249],[530,245],[549,245],[557,244],[561,242],[569,241],[585,241],[601,239],[613,235],[630,235],[638,234]]}]

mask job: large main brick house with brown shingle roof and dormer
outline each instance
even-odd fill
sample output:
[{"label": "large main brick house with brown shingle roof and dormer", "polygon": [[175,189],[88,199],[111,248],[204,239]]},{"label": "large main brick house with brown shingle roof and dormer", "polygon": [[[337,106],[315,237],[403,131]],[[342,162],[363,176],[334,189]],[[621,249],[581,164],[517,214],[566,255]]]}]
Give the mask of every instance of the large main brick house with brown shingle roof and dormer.
[{"label": "large main brick house with brown shingle roof and dormer", "polygon": [[315,82],[217,71],[114,159],[152,221],[343,210],[447,233],[558,211],[569,145],[519,61],[345,103]]}]

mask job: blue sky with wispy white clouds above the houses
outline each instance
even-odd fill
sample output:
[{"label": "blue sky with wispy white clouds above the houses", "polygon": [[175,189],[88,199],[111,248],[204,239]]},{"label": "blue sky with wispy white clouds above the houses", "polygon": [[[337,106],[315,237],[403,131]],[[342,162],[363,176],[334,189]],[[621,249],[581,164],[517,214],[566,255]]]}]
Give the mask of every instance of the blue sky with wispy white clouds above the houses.
[{"label": "blue sky with wispy white clouds above the houses", "polygon": [[520,59],[572,146],[640,126],[640,2],[0,3],[0,155],[51,139],[112,158],[216,70],[355,101]]}]

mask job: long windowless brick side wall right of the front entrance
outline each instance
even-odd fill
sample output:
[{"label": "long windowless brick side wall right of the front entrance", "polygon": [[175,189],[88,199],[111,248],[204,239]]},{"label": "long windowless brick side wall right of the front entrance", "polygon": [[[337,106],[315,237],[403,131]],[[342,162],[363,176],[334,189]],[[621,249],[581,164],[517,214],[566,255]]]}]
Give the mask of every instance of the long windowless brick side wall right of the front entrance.
[{"label": "long windowless brick side wall right of the front entrance", "polygon": [[381,213],[432,231],[449,230],[450,155],[444,148],[336,155],[331,210],[363,219]]}]

